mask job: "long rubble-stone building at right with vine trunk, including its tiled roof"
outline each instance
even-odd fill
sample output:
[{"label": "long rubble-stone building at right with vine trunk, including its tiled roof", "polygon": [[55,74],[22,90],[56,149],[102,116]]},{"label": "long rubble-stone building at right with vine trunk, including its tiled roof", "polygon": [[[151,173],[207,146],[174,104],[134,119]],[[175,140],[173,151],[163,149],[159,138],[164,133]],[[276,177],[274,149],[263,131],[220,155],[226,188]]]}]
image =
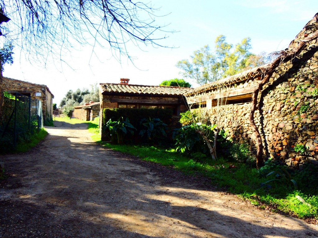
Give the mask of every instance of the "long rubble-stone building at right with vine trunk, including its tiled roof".
[{"label": "long rubble-stone building at right with vine trunk, including its tiled roof", "polygon": [[[306,42],[298,55],[274,70],[259,93],[259,109],[255,111],[264,157],[295,167],[306,162],[318,165],[318,42],[317,37],[307,40],[317,34],[316,16],[290,43],[287,51]],[[228,131],[234,143],[248,143],[255,154],[257,142],[249,120],[252,93],[268,67],[193,89],[185,94],[187,102],[192,108],[203,105],[212,123]],[[223,99],[222,105],[218,99]]]}]

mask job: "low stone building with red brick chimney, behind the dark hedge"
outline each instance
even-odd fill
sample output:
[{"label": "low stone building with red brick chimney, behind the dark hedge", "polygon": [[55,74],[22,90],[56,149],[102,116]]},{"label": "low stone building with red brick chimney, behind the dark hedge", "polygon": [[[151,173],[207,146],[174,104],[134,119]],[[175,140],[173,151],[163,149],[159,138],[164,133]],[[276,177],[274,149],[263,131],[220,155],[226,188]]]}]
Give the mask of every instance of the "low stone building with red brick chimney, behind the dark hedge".
[{"label": "low stone building with red brick chimney, behind the dark hedge", "polygon": [[134,85],[129,84],[127,78],[121,78],[120,83],[100,83],[100,127],[103,126],[102,111],[105,108],[170,108],[173,111],[173,123],[178,123],[180,112],[188,110],[183,94],[189,90],[191,89]]}]

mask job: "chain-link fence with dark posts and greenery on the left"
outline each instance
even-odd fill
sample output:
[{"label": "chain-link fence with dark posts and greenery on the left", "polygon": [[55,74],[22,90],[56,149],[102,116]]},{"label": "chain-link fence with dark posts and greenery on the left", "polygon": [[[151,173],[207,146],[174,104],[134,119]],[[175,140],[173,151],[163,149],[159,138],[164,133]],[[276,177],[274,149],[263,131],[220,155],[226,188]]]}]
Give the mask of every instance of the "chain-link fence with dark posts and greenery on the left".
[{"label": "chain-link fence with dark posts and greenery on the left", "polygon": [[42,102],[22,94],[6,95],[0,122],[0,150],[14,149],[43,127]]}]

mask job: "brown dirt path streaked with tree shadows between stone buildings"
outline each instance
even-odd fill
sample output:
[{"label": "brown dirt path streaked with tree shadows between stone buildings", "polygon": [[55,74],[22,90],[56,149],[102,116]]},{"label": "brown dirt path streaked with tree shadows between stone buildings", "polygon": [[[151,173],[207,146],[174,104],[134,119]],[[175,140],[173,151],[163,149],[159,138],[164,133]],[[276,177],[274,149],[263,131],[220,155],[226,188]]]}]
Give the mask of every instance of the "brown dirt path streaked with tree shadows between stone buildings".
[{"label": "brown dirt path streaked with tree shadows between stone buildings", "polygon": [[57,122],[26,154],[0,157],[0,237],[315,237],[318,227],[273,214]]}]

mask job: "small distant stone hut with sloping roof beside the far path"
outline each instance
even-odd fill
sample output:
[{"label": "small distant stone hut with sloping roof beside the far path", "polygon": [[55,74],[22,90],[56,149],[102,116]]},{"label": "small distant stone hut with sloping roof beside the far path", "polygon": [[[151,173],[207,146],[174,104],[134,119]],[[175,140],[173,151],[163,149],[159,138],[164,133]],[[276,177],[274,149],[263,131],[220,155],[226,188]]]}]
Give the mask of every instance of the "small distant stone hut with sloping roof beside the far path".
[{"label": "small distant stone hut with sloping roof beside the far path", "polygon": [[74,107],[74,117],[83,121],[93,121],[100,114],[100,102],[88,102]]}]

